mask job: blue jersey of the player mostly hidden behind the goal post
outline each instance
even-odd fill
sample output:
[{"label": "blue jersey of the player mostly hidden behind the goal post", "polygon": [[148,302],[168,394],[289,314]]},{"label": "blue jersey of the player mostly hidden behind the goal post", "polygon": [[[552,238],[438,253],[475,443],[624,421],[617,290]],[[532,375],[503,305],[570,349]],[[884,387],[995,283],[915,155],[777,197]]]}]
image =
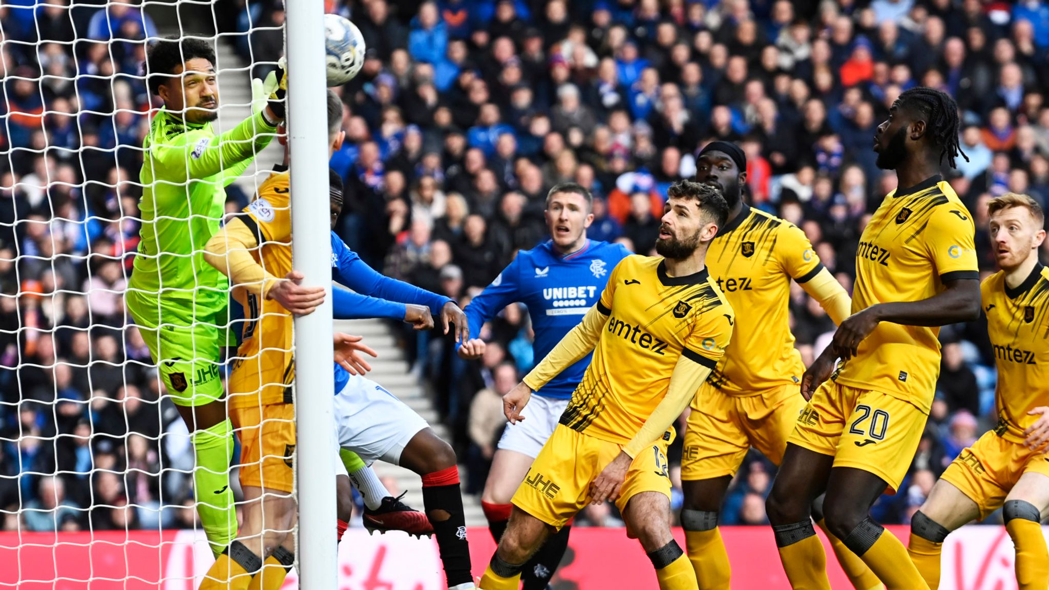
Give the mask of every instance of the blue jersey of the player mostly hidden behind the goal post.
[{"label": "blue jersey of the player mostly hidden behind the goal post", "polygon": [[[333,288],[333,315],[336,319],[404,319],[405,303],[426,305],[436,317],[441,315],[441,308],[451,301],[448,297],[376,272],[335,232],[331,232],[331,278],[355,291],[350,293],[338,287]],[[342,391],[348,380],[349,373],[335,363],[335,393]]]}]

